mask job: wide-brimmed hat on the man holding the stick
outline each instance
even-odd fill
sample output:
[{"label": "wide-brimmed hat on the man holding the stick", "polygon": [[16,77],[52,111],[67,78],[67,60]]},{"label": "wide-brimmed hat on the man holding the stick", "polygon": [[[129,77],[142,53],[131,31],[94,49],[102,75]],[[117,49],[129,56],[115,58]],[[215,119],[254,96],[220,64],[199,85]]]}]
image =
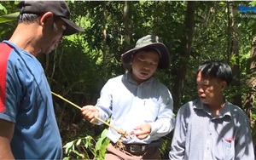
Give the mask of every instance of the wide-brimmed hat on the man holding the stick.
[{"label": "wide-brimmed hat on the man holding the stick", "polygon": [[152,48],[159,52],[160,61],[158,68],[166,69],[170,66],[170,55],[169,51],[166,48],[166,45],[162,43],[160,37],[155,35],[147,35],[137,40],[136,46],[134,49],[130,49],[124,54],[121,55],[121,60],[123,63],[128,64],[131,61],[131,54],[134,54],[140,49]]}]

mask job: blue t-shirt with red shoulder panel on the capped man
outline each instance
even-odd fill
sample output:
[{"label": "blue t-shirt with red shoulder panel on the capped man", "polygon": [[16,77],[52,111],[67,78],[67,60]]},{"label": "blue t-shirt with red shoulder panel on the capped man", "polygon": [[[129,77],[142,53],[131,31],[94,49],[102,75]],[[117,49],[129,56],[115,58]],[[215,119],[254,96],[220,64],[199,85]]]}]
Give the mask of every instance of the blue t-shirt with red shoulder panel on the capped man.
[{"label": "blue t-shirt with red shoulder panel on the capped man", "polygon": [[15,159],[61,159],[61,135],[43,67],[8,41],[0,49],[0,118],[15,123]]}]

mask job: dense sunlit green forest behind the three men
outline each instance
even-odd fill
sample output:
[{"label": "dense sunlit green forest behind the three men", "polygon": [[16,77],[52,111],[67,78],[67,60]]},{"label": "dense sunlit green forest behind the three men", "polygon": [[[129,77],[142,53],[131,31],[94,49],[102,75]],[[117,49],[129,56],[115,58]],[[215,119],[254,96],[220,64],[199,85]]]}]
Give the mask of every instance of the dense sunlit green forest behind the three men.
[{"label": "dense sunlit green forest behind the three men", "polygon": [[[0,1],[0,40],[15,30],[18,1]],[[230,64],[234,81],[225,96],[250,118],[256,144],[256,2],[253,1],[68,1],[71,19],[84,33],[64,37],[53,53],[38,56],[52,91],[78,106],[95,105],[102,86],[125,73],[120,55],[148,34],[161,37],[171,66],[155,77],[166,84],[174,112],[197,98],[195,71],[205,60]],[[125,98],[125,95],[124,95]],[[102,159],[108,126],[93,126],[80,111],[54,97],[64,159]],[[136,117],[131,117],[136,118]],[[162,138],[168,158],[172,133]]]}]

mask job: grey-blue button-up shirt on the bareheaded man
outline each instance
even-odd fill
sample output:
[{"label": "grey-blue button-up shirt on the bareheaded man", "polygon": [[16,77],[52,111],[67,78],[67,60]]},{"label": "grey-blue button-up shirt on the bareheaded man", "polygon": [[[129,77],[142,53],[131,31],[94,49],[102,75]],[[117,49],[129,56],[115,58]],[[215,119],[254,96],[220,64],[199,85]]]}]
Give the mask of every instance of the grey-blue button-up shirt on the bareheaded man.
[{"label": "grey-blue button-up shirt on the bareheaded man", "polygon": [[177,112],[170,159],[254,159],[248,117],[226,101],[216,117],[201,100],[181,106]]}]

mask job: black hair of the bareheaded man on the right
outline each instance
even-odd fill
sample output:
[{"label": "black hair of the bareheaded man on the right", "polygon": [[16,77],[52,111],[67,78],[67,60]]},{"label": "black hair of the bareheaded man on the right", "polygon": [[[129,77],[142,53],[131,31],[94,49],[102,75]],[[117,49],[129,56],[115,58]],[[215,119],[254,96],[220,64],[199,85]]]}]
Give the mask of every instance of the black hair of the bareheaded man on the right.
[{"label": "black hair of the bareheaded man on the right", "polygon": [[227,85],[230,85],[233,78],[230,66],[221,61],[208,60],[199,66],[196,76],[200,71],[203,78],[218,78],[225,81]]}]

